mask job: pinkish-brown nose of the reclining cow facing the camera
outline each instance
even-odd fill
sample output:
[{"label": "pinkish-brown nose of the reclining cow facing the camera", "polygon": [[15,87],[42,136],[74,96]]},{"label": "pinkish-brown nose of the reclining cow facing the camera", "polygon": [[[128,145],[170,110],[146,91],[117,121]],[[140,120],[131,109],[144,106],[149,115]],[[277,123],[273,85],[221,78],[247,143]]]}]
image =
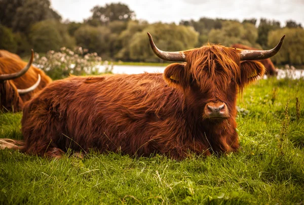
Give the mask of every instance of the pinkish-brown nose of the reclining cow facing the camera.
[{"label": "pinkish-brown nose of the reclining cow facing the camera", "polygon": [[208,118],[224,118],[229,116],[227,105],[223,102],[207,103],[205,114]]}]

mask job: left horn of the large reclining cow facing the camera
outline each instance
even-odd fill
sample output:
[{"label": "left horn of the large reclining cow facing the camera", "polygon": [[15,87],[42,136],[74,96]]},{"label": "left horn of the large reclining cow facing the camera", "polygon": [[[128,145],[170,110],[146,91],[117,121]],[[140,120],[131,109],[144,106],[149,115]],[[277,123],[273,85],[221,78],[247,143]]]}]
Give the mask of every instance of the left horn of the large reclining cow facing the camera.
[{"label": "left horn of the large reclining cow facing the camera", "polygon": [[149,32],[148,32],[148,36],[149,36],[151,48],[159,58],[166,61],[180,61],[180,62],[186,61],[186,56],[183,51],[178,51],[178,52],[161,51],[155,46],[153,42],[153,38]]}]

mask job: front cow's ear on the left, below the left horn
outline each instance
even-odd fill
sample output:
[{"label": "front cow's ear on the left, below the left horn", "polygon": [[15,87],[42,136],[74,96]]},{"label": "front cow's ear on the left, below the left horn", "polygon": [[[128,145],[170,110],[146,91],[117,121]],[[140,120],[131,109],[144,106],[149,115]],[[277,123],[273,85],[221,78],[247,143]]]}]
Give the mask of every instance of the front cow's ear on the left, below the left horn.
[{"label": "front cow's ear on the left, below the left horn", "polygon": [[185,64],[172,63],[164,71],[164,79],[169,86],[186,88],[188,83],[185,76]]}]

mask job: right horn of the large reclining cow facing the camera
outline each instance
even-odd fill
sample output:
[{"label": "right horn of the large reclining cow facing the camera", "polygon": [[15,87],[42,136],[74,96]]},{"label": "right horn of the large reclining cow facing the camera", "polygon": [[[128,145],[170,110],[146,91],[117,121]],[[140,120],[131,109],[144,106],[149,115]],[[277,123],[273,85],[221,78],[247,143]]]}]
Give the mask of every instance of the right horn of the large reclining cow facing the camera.
[{"label": "right horn of the large reclining cow facing the camera", "polygon": [[241,61],[262,60],[262,59],[267,59],[267,58],[270,58],[270,57],[276,55],[278,53],[278,51],[281,49],[284,38],[285,38],[285,35],[283,35],[281,37],[279,44],[271,50],[266,50],[266,51],[241,50],[241,52],[240,52]]}]

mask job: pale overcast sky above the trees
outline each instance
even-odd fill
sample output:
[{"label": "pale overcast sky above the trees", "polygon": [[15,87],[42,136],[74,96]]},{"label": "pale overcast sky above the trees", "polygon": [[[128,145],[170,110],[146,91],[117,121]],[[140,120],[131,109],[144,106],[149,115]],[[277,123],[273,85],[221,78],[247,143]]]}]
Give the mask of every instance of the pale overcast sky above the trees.
[{"label": "pale overcast sky above the trees", "polygon": [[304,25],[304,0],[50,0],[52,8],[70,21],[81,22],[91,16],[90,10],[108,3],[124,3],[137,19],[149,23],[175,22],[200,17],[248,19],[275,19],[285,24],[293,19]]}]

